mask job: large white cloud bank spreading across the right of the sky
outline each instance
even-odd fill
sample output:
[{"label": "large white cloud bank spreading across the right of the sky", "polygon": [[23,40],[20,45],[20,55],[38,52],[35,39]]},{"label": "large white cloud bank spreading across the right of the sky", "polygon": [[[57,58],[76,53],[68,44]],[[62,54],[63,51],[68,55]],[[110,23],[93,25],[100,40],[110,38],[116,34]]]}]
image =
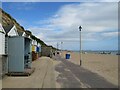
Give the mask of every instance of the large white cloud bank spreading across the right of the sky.
[{"label": "large white cloud bank spreading across the right of the sky", "polygon": [[118,30],[117,5],[118,3],[64,5],[52,17],[37,21],[38,24],[45,24],[45,27],[29,28],[29,30],[51,45],[61,41],[79,43],[80,25],[82,25],[82,41],[107,40],[110,37],[114,38]]}]

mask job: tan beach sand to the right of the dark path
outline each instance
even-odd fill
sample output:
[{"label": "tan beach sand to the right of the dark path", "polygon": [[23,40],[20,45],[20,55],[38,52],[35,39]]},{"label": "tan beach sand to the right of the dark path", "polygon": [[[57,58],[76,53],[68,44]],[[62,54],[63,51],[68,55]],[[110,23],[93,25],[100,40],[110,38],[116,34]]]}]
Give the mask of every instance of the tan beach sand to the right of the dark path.
[{"label": "tan beach sand to the right of the dark path", "polygon": [[[70,53],[70,62],[80,64],[80,54],[78,52],[62,52],[62,57]],[[104,77],[108,82],[118,85],[118,56],[103,54],[82,54],[82,67]]]}]

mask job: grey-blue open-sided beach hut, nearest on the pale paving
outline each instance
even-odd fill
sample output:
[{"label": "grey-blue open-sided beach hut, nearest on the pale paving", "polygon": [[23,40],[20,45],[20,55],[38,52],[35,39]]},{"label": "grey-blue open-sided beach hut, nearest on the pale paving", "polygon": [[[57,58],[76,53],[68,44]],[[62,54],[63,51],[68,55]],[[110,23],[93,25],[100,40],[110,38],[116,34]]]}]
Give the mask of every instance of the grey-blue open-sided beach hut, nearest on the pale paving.
[{"label": "grey-blue open-sided beach hut, nearest on the pale paving", "polygon": [[31,39],[13,36],[8,39],[9,73],[25,73],[31,69]]}]

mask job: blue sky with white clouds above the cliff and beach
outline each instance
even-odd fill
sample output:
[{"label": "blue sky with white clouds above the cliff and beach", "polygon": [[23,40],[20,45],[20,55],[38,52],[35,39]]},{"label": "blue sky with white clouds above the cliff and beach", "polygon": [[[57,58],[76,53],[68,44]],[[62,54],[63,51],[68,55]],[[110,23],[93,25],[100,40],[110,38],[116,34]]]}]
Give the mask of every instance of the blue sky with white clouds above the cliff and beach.
[{"label": "blue sky with white clouds above the cliff and beach", "polygon": [[79,50],[81,25],[83,50],[118,50],[117,2],[3,2],[2,8],[48,45]]}]

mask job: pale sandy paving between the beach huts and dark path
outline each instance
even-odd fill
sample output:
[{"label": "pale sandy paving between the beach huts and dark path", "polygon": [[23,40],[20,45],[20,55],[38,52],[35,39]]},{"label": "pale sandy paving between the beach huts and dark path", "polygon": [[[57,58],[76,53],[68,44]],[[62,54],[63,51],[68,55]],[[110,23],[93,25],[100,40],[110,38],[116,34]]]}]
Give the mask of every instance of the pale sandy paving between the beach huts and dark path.
[{"label": "pale sandy paving between the beach huts and dark path", "polygon": [[41,57],[33,61],[35,71],[31,76],[5,77],[3,88],[55,88],[55,74],[53,60]]}]

